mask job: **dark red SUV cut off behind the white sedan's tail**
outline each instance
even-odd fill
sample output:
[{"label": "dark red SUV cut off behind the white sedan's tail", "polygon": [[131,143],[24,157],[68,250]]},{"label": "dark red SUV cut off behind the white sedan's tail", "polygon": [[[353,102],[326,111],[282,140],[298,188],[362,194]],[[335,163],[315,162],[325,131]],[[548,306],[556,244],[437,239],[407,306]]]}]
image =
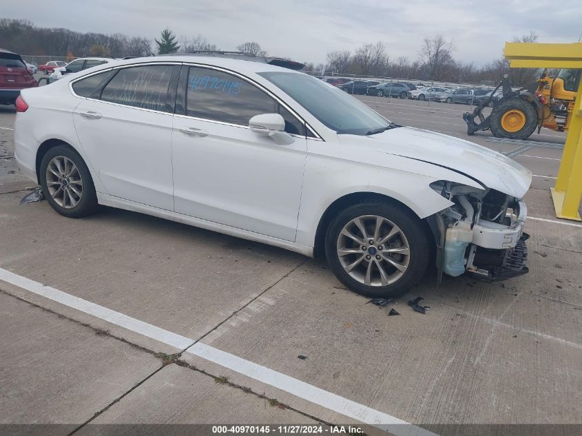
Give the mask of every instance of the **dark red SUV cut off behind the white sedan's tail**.
[{"label": "dark red SUV cut off behind the white sedan's tail", "polygon": [[0,105],[13,105],[20,90],[38,85],[20,54],[0,48]]}]

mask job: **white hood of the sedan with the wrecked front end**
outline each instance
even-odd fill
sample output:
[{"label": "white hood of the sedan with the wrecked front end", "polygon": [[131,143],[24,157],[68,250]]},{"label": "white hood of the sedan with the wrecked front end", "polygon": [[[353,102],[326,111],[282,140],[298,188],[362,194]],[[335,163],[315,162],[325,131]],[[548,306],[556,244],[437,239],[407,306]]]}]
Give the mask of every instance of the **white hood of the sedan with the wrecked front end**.
[{"label": "white hood of the sedan with the wrecked front end", "polygon": [[[379,152],[446,167],[473,178],[481,185],[522,198],[532,173],[501,153],[464,139],[413,127],[398,127],[381,134],[359,136]],[[364,144],[362,144],[364,145]]]}]

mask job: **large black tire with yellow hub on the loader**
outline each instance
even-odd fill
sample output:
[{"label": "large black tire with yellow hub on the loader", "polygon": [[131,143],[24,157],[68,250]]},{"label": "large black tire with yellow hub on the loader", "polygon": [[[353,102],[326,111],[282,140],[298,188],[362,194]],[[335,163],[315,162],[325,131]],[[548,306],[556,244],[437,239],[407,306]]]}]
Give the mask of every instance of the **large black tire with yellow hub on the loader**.
[{"label": "large black tire with yellow hub on the loader", "polygon": [[[510,118],[511,112],[517,114],[517,121],[513,123],[513,126],[512,118]],[[504,115],[507,117],[505,122]],[[520,125],[521,128],[518,128]],[[496,138],[526,139],[534,132],[537,125],[536,108],[533,103],[523,98],[510,98],[501,101],[491,111],[490,129]]]}]

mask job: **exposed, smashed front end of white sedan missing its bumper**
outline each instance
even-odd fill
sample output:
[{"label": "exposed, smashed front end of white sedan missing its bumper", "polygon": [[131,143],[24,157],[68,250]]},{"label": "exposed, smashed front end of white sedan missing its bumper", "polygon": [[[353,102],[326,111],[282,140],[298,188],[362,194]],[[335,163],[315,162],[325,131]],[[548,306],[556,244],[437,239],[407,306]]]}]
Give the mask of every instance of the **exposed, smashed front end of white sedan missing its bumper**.
[{"label": "exposed, smashed front end of white sedan missing its bumper", "polygon": [[529,271],[529,235],[523,233],[528,209],[521,198],[444,180],[430,187],[454,203],[427,218],[437,245],[438,282],[443,273],[497,281]]}]

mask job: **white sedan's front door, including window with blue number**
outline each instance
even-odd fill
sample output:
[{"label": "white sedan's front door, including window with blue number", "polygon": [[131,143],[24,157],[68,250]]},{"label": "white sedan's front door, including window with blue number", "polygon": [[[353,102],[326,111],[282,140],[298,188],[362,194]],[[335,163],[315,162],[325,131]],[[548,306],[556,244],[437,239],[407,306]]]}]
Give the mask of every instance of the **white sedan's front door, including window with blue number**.
[{"label": "white sedan's front door, including window with blue number", "polygon": [[[172,136],[176,212],[295,240],[304,124],[253,83],[221,70],[189,67],[180,93],[184,109],[176,110]],[[252,116],[273,112],[285,119],[292,144],[248,128]]]}]

